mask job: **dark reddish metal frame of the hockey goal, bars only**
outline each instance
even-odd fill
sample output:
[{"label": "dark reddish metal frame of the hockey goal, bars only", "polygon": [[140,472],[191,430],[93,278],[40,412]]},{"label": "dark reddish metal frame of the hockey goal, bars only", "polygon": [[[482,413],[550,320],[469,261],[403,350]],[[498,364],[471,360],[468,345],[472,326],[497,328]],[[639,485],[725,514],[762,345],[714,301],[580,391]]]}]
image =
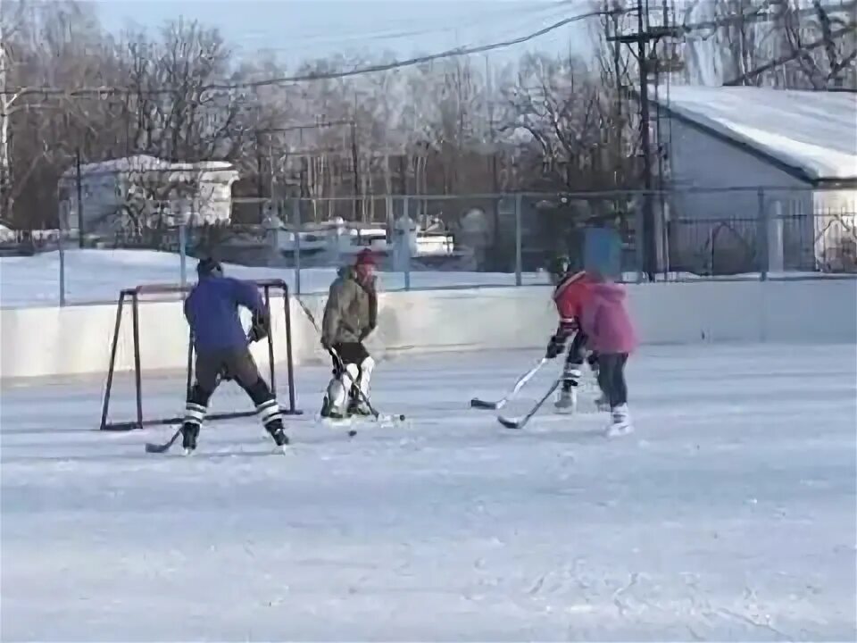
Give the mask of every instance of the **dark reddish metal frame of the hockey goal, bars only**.
[{"label": "dark reddish metal frame of the hockey goal, bars only", "polygon": [[[270,313],[271,302],[276,298],[281,297],[283,300],[283,313],[286,321],[286,365],[287,365],[287,386],[288,386],[288,406],[282,408],[282,413],[287,415],[300,415],[300,411],[295,403],[295,363],[292,357],[292,318],[289,306],[289,291],[288,285],[283,280],[247,280],[262,290],[262,302],[265,310]],[[143,413],[143,374],[140,364],[140,296],[142,295],[181,295],[181,302],[184,302],[187,293],[194,288],[194,284],[182,286],[180,284],[142,284],[136,288],[124,288],[120,291],[119,301],[116,305],[116,322],[113,327],[113,338],[110,349],[110,364],[107,370],[107,381],[104,385],[104,402],[101,412],[100,430],[109,431],[125,431],[145,429],[149,426],[158,426],[164,424],[180,424],[183,422],[183,417],[164,417],[145,419]],[[279,297],[278,297],[279,296]],[[134,392],[137,398],[137,419],[124,422],[108,422],[107,418],[110,413],[110,400],[113,385],[113,375],[116,367],[116,352],[119,347],[121,337],[121,324],[125,306],[131,308],[131,331],[134,344]],[[267,343],[268,364],[265,370],[268,383],[273,394],[277,395],[277,369],[274,362],[274,333],[271,330],[267,338],[264,339]],[[187,334],[187,380],[186,393],[189,394],[194,383],[194,349],[193,332],[188,330]],[[184,403],[184,400],[182,400]],[[235,411],[227,413],[212,413],[207,415],[206,422],[212,420],[230,420],[242,417],[251,417],[255,415],[255,410]]]}]

